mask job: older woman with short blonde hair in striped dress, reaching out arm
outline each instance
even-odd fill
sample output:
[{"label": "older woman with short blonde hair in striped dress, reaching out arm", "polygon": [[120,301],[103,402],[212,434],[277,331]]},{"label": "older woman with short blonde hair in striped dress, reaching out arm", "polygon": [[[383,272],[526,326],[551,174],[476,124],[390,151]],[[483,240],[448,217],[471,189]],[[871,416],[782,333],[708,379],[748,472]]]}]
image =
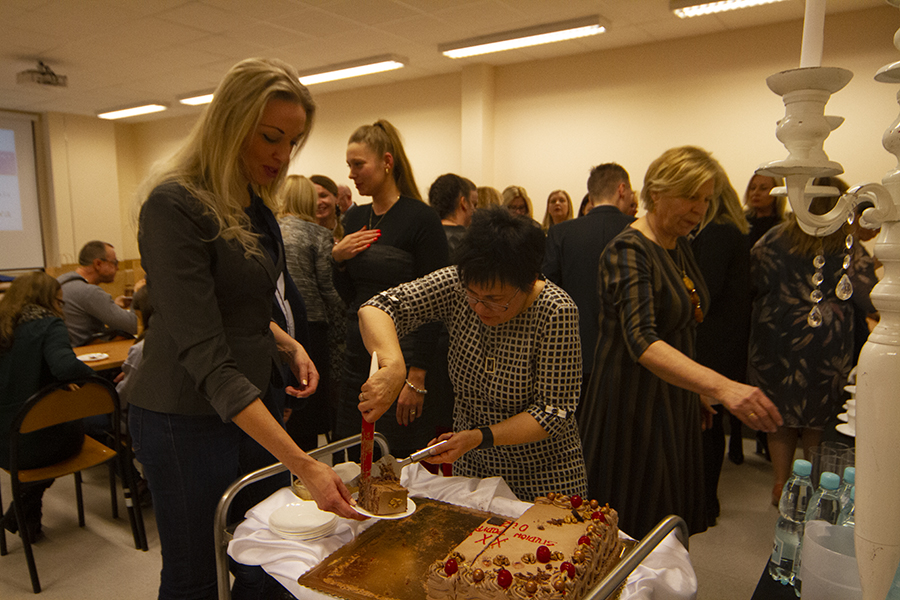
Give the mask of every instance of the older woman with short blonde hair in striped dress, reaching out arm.
[{"label": "older woman with short blonde hair in striped dress, reaching out arm", "polygon": [[685,236],[715,214],[721,173],[699,148],[663,153],[644,177],[647,214],[600,257],[600,342],[578,424],[590,497],[637,537],[672,513],[706,529],[699,396],[755,429],[781,424],[758,389],[693,360],[709,294]]}]

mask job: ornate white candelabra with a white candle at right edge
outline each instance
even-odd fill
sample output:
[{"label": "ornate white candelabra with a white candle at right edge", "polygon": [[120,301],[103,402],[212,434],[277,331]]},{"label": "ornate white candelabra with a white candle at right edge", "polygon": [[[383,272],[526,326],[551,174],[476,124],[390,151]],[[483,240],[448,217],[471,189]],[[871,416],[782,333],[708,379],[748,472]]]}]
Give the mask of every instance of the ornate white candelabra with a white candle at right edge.
[{"label": "ornate white candelabra with a white candle at right edge", "polygon": [[[900,6],[900,0],[886,0]],[[785,117],[776,136],[788,157],[760,167],[762,173],[784,177],[791,208],[800,227],[811,235],[828,235],[841,227],[856,205],[868,200],[860,224],[875,229],[875,257],[884,264],[884,277],[871,299],[881,320],[859,357],[856,398],[856,557],[864,600],[884,600],[900,562],[900,117],[885,131],[882,143],[898,159],[898,166],[882,179],[852,187],[825,215],[809,211],[810,199],[837,196],[835,188],[810,186],[815,177],[843,172],[823,149],[825,139],[843,123],[825,115],[831,94],[853,74],[822,67],[825,0],[806,0],[800,68],[769,77],[769,88],[784,100]],[[900,30],[894,35],[900,50]],[[883,83],[900,83],[900,62],[881,68]],[[900,94],[897,96],[900,102]]]}]

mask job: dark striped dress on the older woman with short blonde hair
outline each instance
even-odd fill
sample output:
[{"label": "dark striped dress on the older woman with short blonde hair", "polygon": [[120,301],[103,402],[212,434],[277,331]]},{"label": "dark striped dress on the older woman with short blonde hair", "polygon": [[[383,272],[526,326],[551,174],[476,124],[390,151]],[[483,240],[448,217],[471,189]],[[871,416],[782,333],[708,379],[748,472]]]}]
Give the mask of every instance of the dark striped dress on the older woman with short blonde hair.
[{"label": "dark striped dress on the older woman with short blonde hair", "polygon": [[603,252],[600,337],[578,416],[588,493],[619,511],[619,526],[635,537],[669,514],[691,534],[706,530],[700,400],[637,362],[656,341],[694,356],[697,323],[682,269],[704,312],[709,295],[684,238],[673,253],[632,228]]}]

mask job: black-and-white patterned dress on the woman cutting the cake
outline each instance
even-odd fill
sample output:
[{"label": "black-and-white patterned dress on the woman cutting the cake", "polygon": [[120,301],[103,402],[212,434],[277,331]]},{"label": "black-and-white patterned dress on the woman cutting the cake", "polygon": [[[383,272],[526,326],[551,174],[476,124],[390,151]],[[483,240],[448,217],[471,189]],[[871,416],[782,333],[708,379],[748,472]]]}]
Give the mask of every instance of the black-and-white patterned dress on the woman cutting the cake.
[{"label": "black-and-white patterned dress on the woman cutting the cake", "polygon": [[447,267],[366,303],[390,315],[401,337],[423,323],[447,326],[454,431],[527,412],[549,434],[537,442],[467,452],[453,463],[454,475],[502,477],[529,502],[548,492],[583,496],[587,481],[575,422],[581,389],[575,303],[548,281],[521,314],[488,326],[461,289],[456,267]]}]

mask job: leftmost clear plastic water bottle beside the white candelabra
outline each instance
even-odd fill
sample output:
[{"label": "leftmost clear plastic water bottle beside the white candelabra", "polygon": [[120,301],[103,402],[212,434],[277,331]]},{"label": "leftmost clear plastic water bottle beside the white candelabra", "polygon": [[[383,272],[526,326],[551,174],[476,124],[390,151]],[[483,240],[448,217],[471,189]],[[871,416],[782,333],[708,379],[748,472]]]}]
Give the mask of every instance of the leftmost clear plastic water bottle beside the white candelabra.
[{"label": "leftmost clear plastic water bottle beside the white candelabra", "polygon": [[769,575],[782,585],[793,582],[794,562],[799,557],[800,540],[803,539],[803,522],[807,502],[812,495],[809,474],[812,465],[806,460],[795,460],[793,475],[784,484],[778,502],[778,520],[775,522],[775,541],[769,558]]}]

